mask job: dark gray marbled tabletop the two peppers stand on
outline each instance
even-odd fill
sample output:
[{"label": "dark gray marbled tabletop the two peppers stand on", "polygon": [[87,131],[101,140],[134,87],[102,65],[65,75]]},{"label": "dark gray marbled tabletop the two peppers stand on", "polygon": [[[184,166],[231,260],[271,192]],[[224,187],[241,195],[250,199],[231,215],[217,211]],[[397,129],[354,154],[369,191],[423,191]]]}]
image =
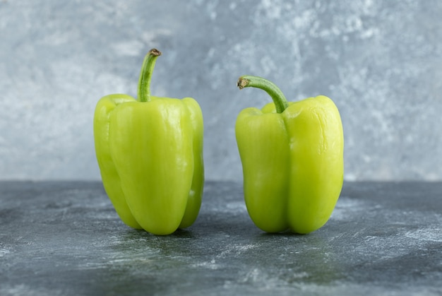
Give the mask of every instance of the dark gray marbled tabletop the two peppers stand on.
[{"label": "dark gray marbled tabletop the two peppers stand on", "polygon": [[99,182],[0,182],[0,295],[441,295],[442,183],[347,182],[328,223],[266,234],[242,187],[160,237],[126,227]]}]

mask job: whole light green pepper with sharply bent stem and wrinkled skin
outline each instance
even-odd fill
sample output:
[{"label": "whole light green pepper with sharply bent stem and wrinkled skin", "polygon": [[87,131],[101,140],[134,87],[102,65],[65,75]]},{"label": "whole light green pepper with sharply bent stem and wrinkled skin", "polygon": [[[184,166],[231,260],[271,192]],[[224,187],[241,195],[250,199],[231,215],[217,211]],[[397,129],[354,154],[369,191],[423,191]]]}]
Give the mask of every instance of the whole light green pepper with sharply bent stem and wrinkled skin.
[{"label": "whole light green pepper with sharply bent stem and wrinkled skin", "polygon": [[238,86],[261,88],[274,101],[263,109],[244,109],[235,126],[253,223],[265,232],[318,230],[342,189],[338,108],[323,95],[288,103],[276,85],[256,76],[242,76]]}]

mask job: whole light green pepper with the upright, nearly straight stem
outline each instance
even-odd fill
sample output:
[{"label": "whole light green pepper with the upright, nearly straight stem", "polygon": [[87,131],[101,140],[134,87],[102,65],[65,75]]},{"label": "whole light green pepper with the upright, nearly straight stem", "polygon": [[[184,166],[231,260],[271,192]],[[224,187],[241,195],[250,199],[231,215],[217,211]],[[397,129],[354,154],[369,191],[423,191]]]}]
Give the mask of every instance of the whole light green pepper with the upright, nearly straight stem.
[{"label": "whole light green pepper with the upright, nearly straight stem", "polygon": [[146,55],[138,100],[97,102],[94,138],[104,189],[126,225],[169,235],[196,220],[203,194],[203,115],[191,97],[150,96],[161,52]]}]

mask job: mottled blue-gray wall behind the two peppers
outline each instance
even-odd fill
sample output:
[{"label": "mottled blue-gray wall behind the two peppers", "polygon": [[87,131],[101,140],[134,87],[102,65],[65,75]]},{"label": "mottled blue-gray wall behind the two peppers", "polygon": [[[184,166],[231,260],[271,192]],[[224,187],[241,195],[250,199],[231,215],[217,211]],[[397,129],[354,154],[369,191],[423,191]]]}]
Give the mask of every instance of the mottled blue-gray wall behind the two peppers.
[{"label": "mottled blue-gray wall behind the two peppers", "polygon": [[0,179],[100,179],[92,117],[136,95],[194,97],[206,178],[241,179],[234,122],[270,98],[319,94],[340,109],[345,179],[442,179],[442,1],[0,0]]}]

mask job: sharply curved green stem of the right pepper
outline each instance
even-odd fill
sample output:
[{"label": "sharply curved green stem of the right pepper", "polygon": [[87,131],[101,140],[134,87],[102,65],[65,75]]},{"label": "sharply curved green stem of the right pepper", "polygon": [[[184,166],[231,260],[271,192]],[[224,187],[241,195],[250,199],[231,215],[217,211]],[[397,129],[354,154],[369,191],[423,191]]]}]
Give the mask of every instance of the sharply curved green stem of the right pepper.
[{"label": "sharply curved green stem of the right pepper", "polygon": [[261,90],[265,90],[265,92],[272,97],[277,113],[282,113],[287,107],[289,107],[289,103],[287,102],[287,99],[280,88],[265,78],[249,75],[241,76],[239,77],[237,86],[240,90],[249,87],[261,88]]}]

